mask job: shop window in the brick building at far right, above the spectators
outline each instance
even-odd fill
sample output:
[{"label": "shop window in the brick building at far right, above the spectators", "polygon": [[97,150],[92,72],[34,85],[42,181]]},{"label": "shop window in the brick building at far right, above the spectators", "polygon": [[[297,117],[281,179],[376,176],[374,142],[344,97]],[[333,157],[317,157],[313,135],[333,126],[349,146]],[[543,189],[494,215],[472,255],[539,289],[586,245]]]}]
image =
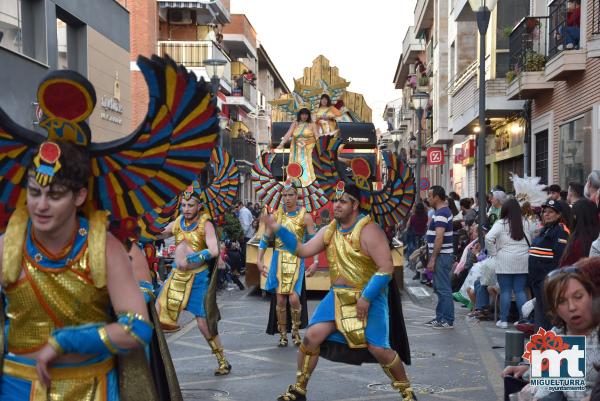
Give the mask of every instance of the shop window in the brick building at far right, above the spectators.
[{"label": "shop window in the brick building at far right, above the spectators", "polygon": [[592,170],[592,112],[560,126],[558,177],[561,188],[585,183]]}]

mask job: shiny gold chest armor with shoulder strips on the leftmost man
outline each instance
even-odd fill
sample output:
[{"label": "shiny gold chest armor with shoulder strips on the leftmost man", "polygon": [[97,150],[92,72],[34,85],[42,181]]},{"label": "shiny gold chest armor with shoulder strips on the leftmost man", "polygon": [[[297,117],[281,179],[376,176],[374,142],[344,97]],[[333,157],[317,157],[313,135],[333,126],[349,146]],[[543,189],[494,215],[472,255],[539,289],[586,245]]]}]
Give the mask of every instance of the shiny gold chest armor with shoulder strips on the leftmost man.
[{"label": "shiny gold chest armor with shoulder strips on the leftmost man", "polygon": [[[9,276],[19,277],[23,272],[24,277],[11,282],[3,272],[6,315],[10,319],[9,352],[23,354],[40,349],[55,328],[110,321],[105,265],[98,264],[95,256],[105,254],[106,222],[97,217],[90,219],[87,243],[77,259],[62,269],[44,268],[27,255],[23,249],[25,230],[21,230],[22,240],[17,237],[10,244],[20,246],[21,257],[4,257],[3,267]],[[17,254],[15,248],[12,254]],[[102,263],[104,258],[100,259]]]}]

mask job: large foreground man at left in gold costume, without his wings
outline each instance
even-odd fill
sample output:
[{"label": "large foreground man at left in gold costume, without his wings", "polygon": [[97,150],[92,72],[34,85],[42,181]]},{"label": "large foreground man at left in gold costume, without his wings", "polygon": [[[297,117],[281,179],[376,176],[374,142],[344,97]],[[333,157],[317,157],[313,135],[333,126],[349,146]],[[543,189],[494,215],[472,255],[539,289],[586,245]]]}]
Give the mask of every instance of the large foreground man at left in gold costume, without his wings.
[{"label": "large foreground man at left in gold costume, without his wings", "polygon": [[2,400],[118,401],[115,354],[145,346],[152,336],[129,258],[107,233],[106,214],[77,214],[90,172],[82,146],[44,142],[28,171],[27,208],[13,213],[0,238],[8,326]]}]

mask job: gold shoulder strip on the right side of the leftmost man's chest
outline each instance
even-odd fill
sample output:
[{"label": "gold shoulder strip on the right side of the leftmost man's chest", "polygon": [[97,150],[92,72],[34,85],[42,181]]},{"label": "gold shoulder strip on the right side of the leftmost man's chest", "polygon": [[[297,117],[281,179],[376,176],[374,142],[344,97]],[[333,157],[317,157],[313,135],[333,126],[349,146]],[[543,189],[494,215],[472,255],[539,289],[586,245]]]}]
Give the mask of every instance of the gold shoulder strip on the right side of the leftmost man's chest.
[{"label": "gold shoulder strip on the right side of the leftmost man's chest", "polygon": [[106,232],[107,212],[95,211],[90,214],[88,234],[88,254],[90,271],[96,288],[106,287]]}]

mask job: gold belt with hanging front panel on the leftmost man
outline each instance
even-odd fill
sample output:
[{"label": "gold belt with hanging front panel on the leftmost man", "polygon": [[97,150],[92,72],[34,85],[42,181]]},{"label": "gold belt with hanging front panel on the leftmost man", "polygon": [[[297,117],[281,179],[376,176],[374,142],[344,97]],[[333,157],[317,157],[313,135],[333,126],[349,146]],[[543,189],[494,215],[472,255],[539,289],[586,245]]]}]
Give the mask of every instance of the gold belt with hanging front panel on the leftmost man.
[{"label": "gold belt with hanging front panel on the leftmost man", "polygon": [[52,382],[46,388],[38,379],[35,366],[4,360],[4,374],[31,382],[29,401],[106,401],[107,374],[114,369],[114,358],[83,366],[50,368]]}]

